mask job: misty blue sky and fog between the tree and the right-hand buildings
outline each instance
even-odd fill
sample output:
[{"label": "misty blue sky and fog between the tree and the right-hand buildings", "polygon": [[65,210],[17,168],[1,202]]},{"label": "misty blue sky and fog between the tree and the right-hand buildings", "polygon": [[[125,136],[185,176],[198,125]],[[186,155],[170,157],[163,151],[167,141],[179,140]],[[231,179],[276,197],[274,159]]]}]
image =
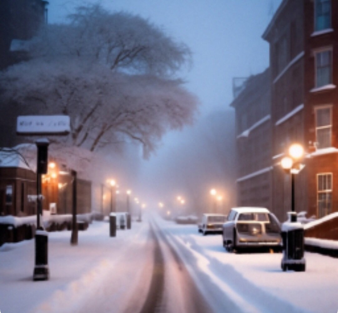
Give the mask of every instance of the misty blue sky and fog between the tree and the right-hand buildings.
[{"label": "misty blue sky and fog between the tree and the right-hand buildings", "polygon": [[[261,35],[280,0],[102,0],[110,11],[126,11],[147,19],[192,51],[192,64],[177,74],[188,92],[198,98],[194,123],[169,131],[147,159],[142,147],[127,145],[101,149],[87,165],[84,178],[93,182],[93,210],[100,203],[101,184],[114,177],[123,202],[131,189],[148,207],[158,202],[176,213],[227,213],[236,204],[234,77],[249,77],[268,67],[268,44]],[[86,1],[96,3],[96,1]],[[67,15],[83,1],[52,0],[48,23],[67,23]],[[215,203],[210,189],[222,197]],[[185,198],[184,206],[177,196]]]}]

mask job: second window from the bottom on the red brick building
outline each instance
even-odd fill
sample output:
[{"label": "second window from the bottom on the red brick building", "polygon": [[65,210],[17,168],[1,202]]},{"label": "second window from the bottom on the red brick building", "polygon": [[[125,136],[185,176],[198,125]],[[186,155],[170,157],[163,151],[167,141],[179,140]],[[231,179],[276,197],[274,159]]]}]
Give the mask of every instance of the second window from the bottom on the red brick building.
[{"label": "second window from the bottom on the red brick building", "polygon": [[317,149],[331,147],[331,106],[316,109],[316,142]]}]

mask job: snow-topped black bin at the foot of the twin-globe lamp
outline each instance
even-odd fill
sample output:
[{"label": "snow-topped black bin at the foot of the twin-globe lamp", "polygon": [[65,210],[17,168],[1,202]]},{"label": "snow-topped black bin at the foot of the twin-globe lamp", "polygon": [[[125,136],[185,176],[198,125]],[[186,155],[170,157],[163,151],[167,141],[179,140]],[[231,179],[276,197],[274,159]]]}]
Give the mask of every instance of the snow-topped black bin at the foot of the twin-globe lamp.
[{"label": "snow-topped black bin at the foot of the twin-globe lamp", "polygon": [[305,271],[304,227],[296,222],[294,215],[291,215],[290,220],[291,222],[285,222],[282,225],[283,258],[281,267],[283,271],[288,269]]}]

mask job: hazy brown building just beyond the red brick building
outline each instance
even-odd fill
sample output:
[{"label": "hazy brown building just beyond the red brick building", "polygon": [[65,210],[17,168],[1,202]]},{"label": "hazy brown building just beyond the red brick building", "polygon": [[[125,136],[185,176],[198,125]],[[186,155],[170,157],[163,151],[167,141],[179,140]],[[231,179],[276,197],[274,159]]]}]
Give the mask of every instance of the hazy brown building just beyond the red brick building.
[{"label": "hazy brown building just beyond the red brick building", "polygon": [[[234,90],[239,206],[271,209],[270,70]],[[240,90],[238,92],[238,90]]]}]

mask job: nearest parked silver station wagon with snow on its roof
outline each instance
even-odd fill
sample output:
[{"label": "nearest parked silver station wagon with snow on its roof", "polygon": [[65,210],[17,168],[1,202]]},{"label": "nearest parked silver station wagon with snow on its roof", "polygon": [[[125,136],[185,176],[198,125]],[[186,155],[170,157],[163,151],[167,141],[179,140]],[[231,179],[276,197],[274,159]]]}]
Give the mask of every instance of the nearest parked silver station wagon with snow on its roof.
[{"label": "nearest parked silver station wagon with snow on its roof", "polygon": [[281,225],[266,208],[233,208],[223,224],[222,240],[227,251],[249,247],[281,250]]}]

